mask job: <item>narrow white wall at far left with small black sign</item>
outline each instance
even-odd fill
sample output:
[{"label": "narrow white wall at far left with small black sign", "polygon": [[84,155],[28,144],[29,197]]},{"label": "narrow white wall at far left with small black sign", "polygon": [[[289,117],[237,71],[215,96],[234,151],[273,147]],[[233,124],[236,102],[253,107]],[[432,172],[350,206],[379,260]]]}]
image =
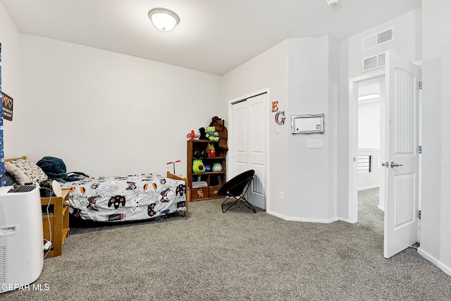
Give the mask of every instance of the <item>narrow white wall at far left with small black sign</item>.
[{"label": "narrow white wall at far left with small black sign", "polygon": [[4,120],[4,154],[11,158],[18,154],[17,106],[20,103],[20,31],[0,3],[1,89],[13,97],[13,121]]}]

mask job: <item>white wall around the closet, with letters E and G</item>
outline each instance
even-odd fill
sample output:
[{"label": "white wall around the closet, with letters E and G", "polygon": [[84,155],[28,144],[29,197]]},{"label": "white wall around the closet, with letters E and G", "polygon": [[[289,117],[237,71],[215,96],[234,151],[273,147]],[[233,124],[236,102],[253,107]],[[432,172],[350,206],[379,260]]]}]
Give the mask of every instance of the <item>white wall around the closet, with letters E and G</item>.
[{"label": "white wall around the closet, with letters E and G", "polygon": [[[288,41],[268,49],[263,54],[244,63],[242,66],[223,75],[222,108],[227,112],[228,102],[253,92],[269,88],[270,102],[278,101],[279,111],[285,111],[288,117]],[[271,110],[271,104],[268,110]],[[279,192],[288,194],[288,135],[290,121],[287,118],[284,125],[273,122],[271,113],[269,122],[269,166],[267,183],[270,185],[266,211],[271,214],[285,216],[287,201],[279,200]],[[228,118],[226,118],[226,125]],[[230,176],[230,175],[229,175]]]}]

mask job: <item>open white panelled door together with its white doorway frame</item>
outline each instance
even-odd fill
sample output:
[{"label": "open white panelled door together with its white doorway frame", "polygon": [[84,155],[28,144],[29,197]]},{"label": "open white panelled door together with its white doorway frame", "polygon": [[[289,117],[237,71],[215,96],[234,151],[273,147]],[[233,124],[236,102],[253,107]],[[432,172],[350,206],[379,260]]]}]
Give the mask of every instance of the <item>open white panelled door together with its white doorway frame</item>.
[{"label": "open white panelled door together with its white doorway frame", "polygon": [[[381,111],[384,257],[418,242],[419,207],[419,67],[385,52],[385,70],[350,80],[350,221],[357,222],[358,92],[365,80],[385,78]],[[381,119],[382,120],[382,119]],[[385,125],[385,128],[384,128]],[[381,135],[382,136],[382,135]],[[383,168],[382,168],[383,166]]]}]

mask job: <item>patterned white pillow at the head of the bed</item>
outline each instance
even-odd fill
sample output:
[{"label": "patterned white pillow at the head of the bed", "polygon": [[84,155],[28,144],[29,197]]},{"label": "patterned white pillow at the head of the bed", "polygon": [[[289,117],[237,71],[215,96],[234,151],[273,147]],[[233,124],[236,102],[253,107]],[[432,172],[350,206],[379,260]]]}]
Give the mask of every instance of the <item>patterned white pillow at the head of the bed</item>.
[{"label": "patterned white pillow at the head of the bed", "polygon": [[19,185],[41,183],[49,178],[39,166],[24,159],[6,161],[5,170],[14,176]]}]

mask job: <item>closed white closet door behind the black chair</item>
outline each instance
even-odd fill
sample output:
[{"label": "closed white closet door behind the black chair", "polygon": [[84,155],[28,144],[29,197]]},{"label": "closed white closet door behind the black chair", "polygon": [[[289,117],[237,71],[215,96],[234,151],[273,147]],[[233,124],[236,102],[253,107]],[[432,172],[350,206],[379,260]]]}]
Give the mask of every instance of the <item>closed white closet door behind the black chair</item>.
[{"label": "closed white closet door behind the black chair", "polygon": [[266,209],[267,97],[264,93],[233,104],[233,176],[254,169],[247,200],[261,209]]}]

